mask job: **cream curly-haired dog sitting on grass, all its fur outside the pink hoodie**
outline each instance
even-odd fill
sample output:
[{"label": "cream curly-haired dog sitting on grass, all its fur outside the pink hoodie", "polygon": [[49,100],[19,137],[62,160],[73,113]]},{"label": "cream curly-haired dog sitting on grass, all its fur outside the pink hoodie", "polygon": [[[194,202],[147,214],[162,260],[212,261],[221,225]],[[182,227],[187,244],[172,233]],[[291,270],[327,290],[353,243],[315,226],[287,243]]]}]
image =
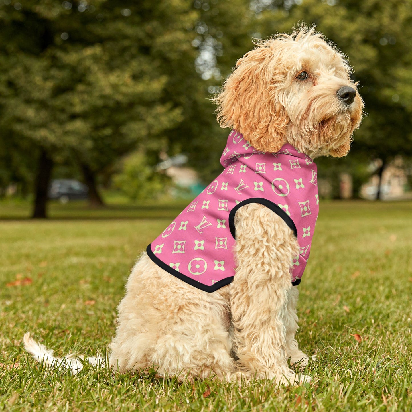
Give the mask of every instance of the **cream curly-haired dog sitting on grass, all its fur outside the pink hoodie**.
[{"label": "cream curly-haired dog sitting on grass, all its fur outside the pink hoodie", "polygon": [[[289,144],[311,159],[345,156],[363,109],[350,73],[345,57],[314,28],[276,35],[236,63],[215,98],[218,120],[241,133],[254,153],[276,154]],[[112,368],[154,366],[159,376],[189,380],[310,380],[287,363],[308,360],[295,339],[298,290],[290,269],[297,237],[279,214],[253,202],[237,209],[234,226],[236,276],[211,293],[140,256],[118,307]],[[29,334],[24,342],[38,360],[64,363]],[[66,362],[74,373],[81,368],[76,359]]]}]

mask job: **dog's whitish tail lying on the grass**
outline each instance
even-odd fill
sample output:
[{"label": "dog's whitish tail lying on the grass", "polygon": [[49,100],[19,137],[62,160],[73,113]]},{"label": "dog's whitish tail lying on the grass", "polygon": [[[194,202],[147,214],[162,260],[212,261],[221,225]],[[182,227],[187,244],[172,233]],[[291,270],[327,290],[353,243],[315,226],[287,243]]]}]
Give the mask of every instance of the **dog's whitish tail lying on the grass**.
[{"label": "dog's whitish tail lying on the grass", "polygon": [[[57,368],[59,370],[70,370],[72,375],[80,372],[83,368],[84,356],[68,355],[63,358],[56,358],[53,356],[52,349],[47,349],[46,346],[37,343],[27,332],[23,336],[24,349],[35,358],[37,362],[43,363],[50,368]],[[105,359],[101,356],[93,356],[87,358],[87,361],[94,366],[104,366]]]}]

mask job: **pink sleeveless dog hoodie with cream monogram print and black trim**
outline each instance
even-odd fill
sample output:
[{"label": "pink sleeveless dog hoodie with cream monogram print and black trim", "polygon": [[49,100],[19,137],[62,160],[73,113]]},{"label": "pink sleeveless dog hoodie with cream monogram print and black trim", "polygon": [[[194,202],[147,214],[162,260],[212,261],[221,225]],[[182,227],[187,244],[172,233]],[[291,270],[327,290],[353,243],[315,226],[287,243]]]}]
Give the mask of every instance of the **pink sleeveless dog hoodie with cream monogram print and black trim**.
[{"label": "pink sleeveless dog hoodie with cream monogram print and black trim", "polygon": [[300,251],[290,274],[298,285],[318,217],[316,164],[289,144],[277,153],[258,152],[234,130],[220,163],[222,173],[147,246],[147,255],[179,279],[214,292],[235,276],[236,211],[259,203],[279,215],[297,237]]}]

